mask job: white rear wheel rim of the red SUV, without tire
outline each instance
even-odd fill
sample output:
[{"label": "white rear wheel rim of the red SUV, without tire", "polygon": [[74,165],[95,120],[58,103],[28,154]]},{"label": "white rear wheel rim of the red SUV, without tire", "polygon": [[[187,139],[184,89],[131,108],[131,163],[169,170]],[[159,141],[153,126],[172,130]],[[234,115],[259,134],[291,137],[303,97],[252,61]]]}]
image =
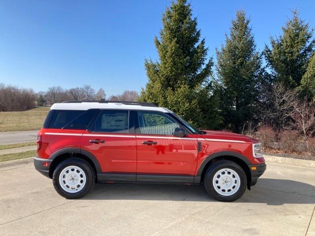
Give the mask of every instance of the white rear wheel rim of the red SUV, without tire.
[{"label": "white rear wheel rim of the red SUV, without tire", "polygon": [[77,166],[67,166],[59,175],[59,184],[68,193],[77,193],[82,190],[86,180],[84,171]]}]

